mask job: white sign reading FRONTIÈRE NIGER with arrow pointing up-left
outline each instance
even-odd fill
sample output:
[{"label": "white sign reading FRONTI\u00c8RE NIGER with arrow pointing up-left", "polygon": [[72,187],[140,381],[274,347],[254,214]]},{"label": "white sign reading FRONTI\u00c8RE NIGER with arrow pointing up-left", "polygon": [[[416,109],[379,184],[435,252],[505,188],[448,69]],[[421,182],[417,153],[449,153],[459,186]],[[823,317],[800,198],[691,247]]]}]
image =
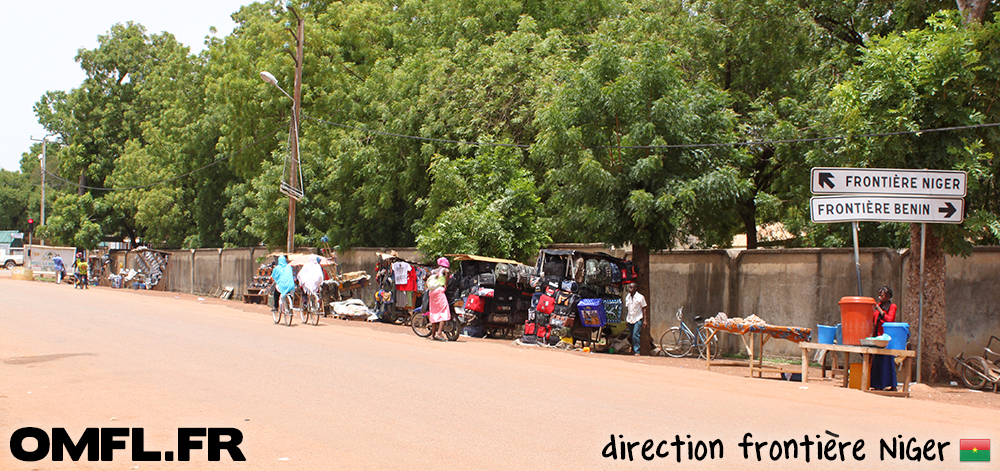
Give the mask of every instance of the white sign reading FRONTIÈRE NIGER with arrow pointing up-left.
[{"label": "white sign reading FRONTI\u00c8RE NIGER with arrow pointing up-left", "polygon": [[809,182],[817,195],[964,197],[967,178],[965,172],[957,170],[814,167]]}]

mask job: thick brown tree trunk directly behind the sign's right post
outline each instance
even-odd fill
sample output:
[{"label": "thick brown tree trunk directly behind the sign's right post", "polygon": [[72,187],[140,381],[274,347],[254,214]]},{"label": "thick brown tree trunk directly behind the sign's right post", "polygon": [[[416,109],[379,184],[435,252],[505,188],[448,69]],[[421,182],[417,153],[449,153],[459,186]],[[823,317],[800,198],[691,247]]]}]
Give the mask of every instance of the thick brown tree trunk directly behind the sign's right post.
[{"label": "thick brown tree trunk directly behind the sign's right post", "polygon": [[[952,378],[948,369],[948,351],[945,348],[947,319],[944,305],[945,254],[941,237],[934,226],[927,228],[927,246],[924,254],[924,321],[920,374],[925,383],[944,383]],[[904,321],[910,331],[917,333],[920,310],[920,224],[910,225],[910,257],[907,273],[906,309]],[[917,348],[917,336],[910,347]]]}]

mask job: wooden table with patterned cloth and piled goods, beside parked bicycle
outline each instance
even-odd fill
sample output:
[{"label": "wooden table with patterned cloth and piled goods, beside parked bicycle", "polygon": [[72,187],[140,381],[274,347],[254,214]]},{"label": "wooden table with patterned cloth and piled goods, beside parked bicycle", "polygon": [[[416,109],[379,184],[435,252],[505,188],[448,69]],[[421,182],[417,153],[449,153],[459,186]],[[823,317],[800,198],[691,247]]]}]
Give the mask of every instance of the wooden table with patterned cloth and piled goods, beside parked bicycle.
[{"label": "wooden table with patterned cloth and piled goods, beside parked bicycle", "polygon": [[[764,363],[764,346],[766,346],[768,341],[771,339],[781,339],[799,343],[808,342],[812,337],[812,329],[807,327],[771,325],[764,322],[763,319],[757,317],[755,314],[747,317],[746,319],[742,319],[739,317],[729,318],[725,314],[719,313],[718,316],[706,320],[705,327],[711,329],[712,332],[706,340],[706,344],[708,345],[712,344],[711,340],[717,337],[720,332],[728,332],[739,335],[744,348],[746,348],[747,356],[749,357],[745,366],[749,367],[751,378],[754,377],[754,375],[757,375],[758,378],[762,377],[764,373],[799,373],[799,367],[797,365]],[[718,364],[717,361],[712,359],[712,355],[717,353],[718,352],[712,351],[706,352],[705,358],[707,369],[712,369],[713,364]],[[726,365],[732,364],[732,361],[726,362]]]}]

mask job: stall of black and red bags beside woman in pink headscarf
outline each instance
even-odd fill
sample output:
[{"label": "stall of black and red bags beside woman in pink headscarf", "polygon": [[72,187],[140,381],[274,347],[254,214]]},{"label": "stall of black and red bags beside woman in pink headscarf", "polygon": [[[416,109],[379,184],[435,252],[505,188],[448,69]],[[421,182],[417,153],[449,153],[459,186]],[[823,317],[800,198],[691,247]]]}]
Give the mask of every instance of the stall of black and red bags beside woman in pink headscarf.
[{"label": "stall of black and red bags beside woman in pink headscarf", "polygon": [[[534,269],[503,258],[469,254],[447,256],[458,262],[454,276],[460,280],[464,308],[466,312],[475,313],[469,331],[477,336],[514,336],[528,319]],[[455,264],[452,267],[456,268]]]}]

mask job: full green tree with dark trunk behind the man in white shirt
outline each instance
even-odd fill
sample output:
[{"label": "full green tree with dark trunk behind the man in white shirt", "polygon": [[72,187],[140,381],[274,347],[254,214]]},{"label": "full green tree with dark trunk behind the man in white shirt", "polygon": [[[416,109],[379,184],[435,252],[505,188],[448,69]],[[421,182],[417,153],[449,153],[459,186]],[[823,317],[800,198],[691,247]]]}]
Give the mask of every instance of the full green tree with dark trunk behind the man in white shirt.
[{"label": "full green tree with dark trunk behind the man in white shirt", "polygon": [[660,35],[662,21],[650,15],[599,27],[588,56],[552,86],[532,147],[549,169],[553,233],[631,243],[644,292],[649,250],[683,238],[678,192],[730,158],[729,148],[684,146],[730,141],[734,122],[724,92],[684,80],[686,54]]}]

